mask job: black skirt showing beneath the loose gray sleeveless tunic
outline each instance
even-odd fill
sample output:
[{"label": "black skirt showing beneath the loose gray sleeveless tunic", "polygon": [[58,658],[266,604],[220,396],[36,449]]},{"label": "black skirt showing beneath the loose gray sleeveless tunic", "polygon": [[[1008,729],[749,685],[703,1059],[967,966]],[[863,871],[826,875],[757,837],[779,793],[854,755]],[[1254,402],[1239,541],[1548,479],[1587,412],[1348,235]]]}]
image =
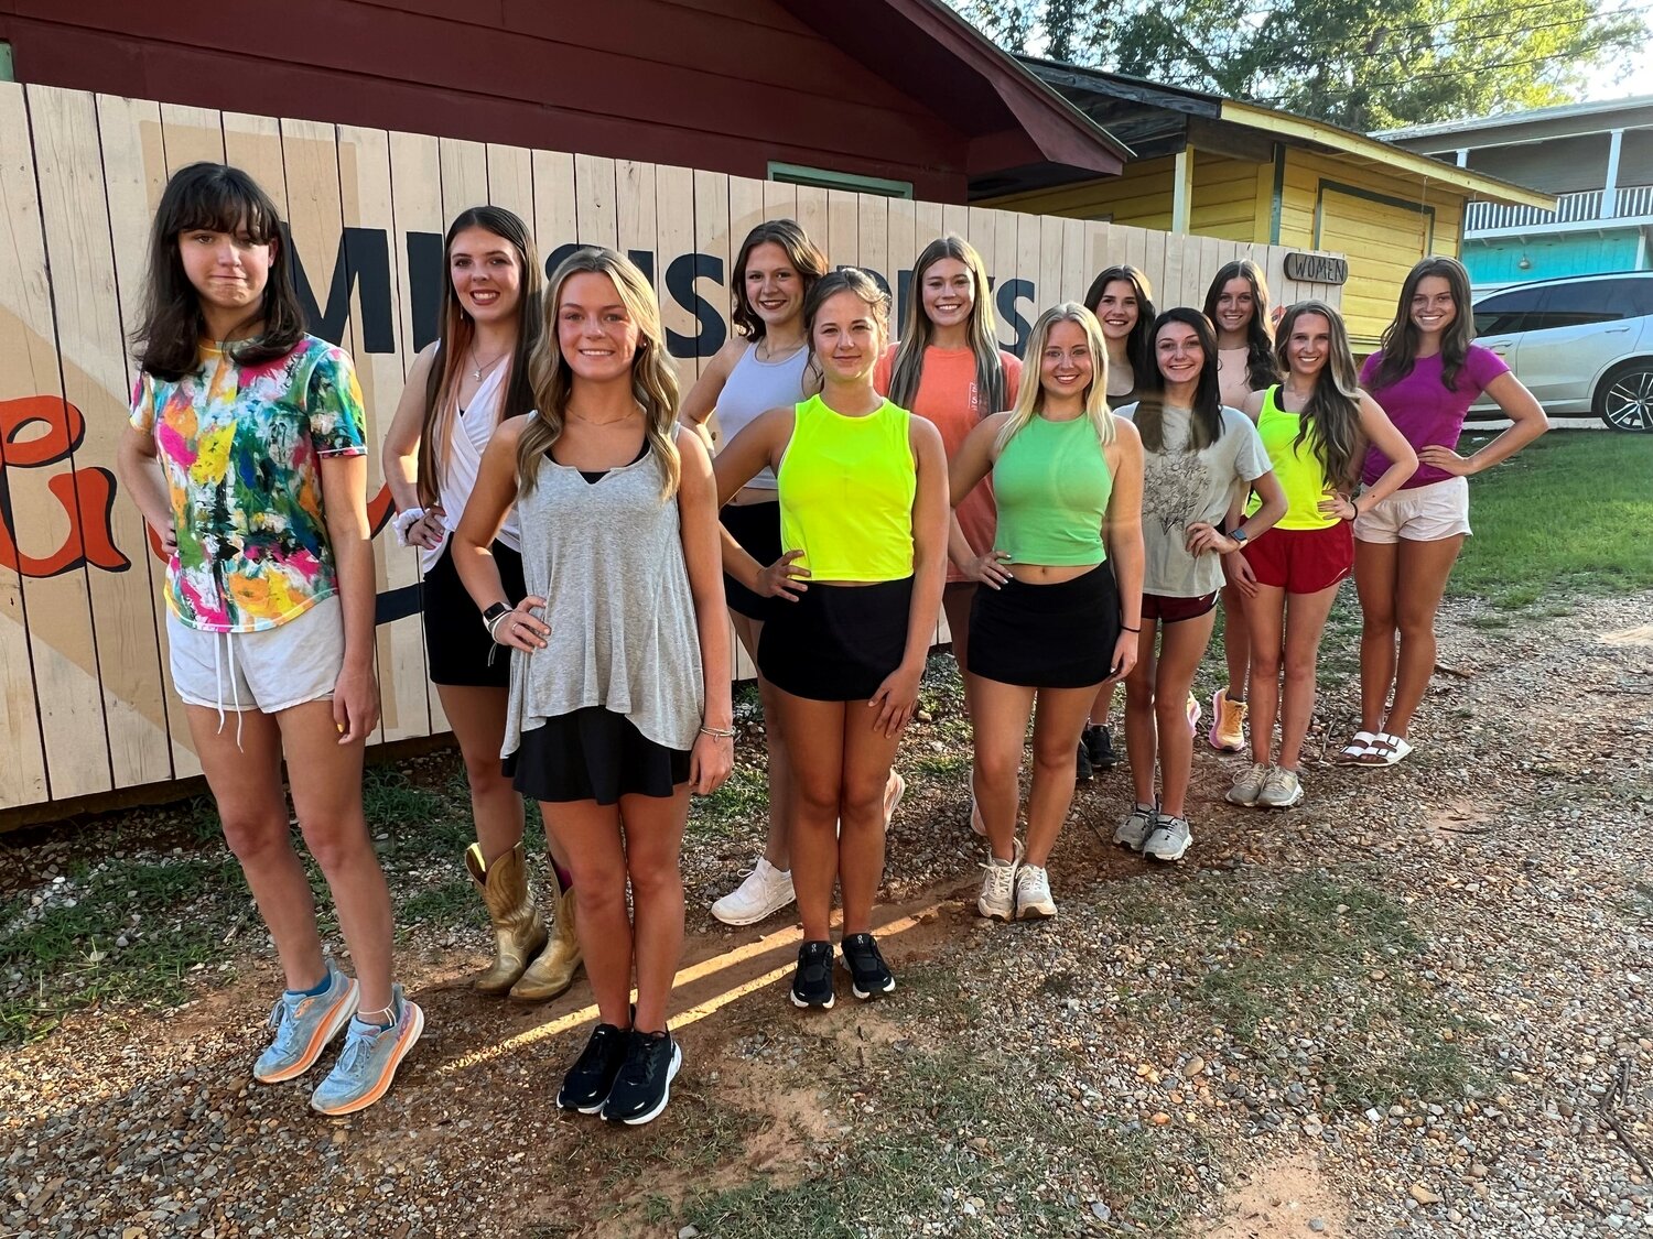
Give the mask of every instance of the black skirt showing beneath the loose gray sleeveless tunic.
[{"label": "black skirt showing beneath the loose gray sleeveless tunic", "polygon": [[503,767],[517,791],[545,801],[618,805],[620,796],[671,796],[689,781],[686,748],[655,743],[623,714],[602,705],[559,714],[522,732]]}]

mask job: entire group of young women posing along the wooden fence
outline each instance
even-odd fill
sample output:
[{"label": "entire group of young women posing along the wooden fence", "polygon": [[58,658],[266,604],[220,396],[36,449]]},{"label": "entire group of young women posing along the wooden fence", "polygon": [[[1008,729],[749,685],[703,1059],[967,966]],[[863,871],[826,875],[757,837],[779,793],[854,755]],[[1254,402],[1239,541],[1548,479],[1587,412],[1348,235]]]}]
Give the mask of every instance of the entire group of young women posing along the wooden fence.
[{"label": "entire group of young women posing along the wooden fence", "polygon": [[[1250,710],[1256,758],[1230,800],[1301,800],[1314,651],[1351,567],[1364,719],[1341,760],[1402,760],[1468,532],[1461,477],[1544,430],[1470,344],[1451,259],[1413,271],[1362,388],[1329,306],[1293,306],[1271,339],[1250,263],[1218,273],[1205,312],[1157,317],[1142,273],[1111,268],[1088,304],[1046,309],[1018,360],[960,238],[919,254],[893,340],[888,291],[780,220],[741,246],[736,339],[679,400],[628,259],[580,249],[544,279],[524,223],[494,206],[460,215],[443,253],[440,339],[413,363],[383,466],[469,780],[466,866],[496,935],[476,988],[544,999],[584,965],[600,1016],[557,1104],[625,1123],[666,1107],[683,1061],[666,1028],[679,851],[689,793],[732,768],[726,605],[759,669],[770,811],[762,856],[712,910],[752,923],[795,899],[792,1001],[830,1008],[835,963],[869,999],[896,986],[873,904],[939,613],[975,732],[979,909],[1051,917],[1048,859],[1076,770],[1116,762],[1121,679],[1136,796],[1114,838],[1187,851],[1190,687],[1218,595],[1230,677],[1210,742],[1245,747]],[[225,165],[167,185],[136,344],[121,476],[170,555],[174,682],[286,976],[255,1077],[307,1072],[344,1031],[311,1104],[350,1113],[423,1028],[392,981],[362,816],[379,707],[360,390],[349,357],[304,334],[274,203]],[[1460,458],[1483,388],[1514,426]],[[283,758],[304,770],[298,821],[355,978],[322,953]],[[549,927],[524,796],[545,821]]]}]

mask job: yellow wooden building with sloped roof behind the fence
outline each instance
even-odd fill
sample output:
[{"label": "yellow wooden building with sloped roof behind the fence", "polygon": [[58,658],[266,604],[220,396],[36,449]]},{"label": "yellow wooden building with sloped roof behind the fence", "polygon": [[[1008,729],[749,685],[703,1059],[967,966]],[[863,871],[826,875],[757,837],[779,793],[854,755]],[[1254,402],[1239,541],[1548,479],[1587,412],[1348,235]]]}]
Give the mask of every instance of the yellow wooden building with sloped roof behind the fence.
[{"label": "yellow wooden building with sloped roof behind the fence", "polygon": [[1412,264],[1427,254],[1458,256],[1466,202],[1554,206],[1552,195],[1322,121],[1025,61],[1134,159],[1117,177],[998,197],[979,180],[972,203],[1341,253],[1342,312],[1362,352],[1377,347]]}]

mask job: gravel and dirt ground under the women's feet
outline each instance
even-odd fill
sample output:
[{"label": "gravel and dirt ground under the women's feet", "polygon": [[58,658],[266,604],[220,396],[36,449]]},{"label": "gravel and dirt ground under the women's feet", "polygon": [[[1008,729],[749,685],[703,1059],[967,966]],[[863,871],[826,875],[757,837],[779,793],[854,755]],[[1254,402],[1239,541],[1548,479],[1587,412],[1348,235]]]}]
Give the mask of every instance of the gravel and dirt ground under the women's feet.
[{"label": "gravel and dirt ground under the women's feet", "polygon": [[[1127,795],[1101,776],[1043,925],[969,910],[937,662],[891,834],[889,915],[912,922],[889,938],[894,1001],[800,1019],[780,981],[734,993],[795,942],[784,919],[704,914],[752,859],[760,800],[698,813],[689,961],[749,958],[679,985],[688,1067],[638,1132],[554,1112],[584,986],[544,1009],[473,998],[469,912],[407,935],[430,1024],[392,1095],[312,1118],[302,1084],[250,1082],[271,966],[248,927],[182,1006],[106,1003],[0,1047],[0,1239],[1653,1234],[1650,616],[1653,595],[1504,628],[1450,605],[1456,674],[1407,763],[1314,768],[1303,808],[1261,814],[1220,800],[1240,758],[1202,752],[1179,867],[1101,841]],[[1354,700],[1327,689],[1327,740]],[[94,847],[35,843],[3,885],[74,899],[53,866]]]}]

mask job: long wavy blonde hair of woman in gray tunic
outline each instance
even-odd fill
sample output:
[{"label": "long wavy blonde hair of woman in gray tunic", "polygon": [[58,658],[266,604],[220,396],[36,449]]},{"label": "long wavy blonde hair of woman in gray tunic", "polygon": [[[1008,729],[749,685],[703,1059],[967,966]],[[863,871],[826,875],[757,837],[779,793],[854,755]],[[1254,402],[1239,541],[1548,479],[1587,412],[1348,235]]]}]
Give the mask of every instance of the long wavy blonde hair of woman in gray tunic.
[{"label": "long wavy blonde hair of woman in gray tunic", "polygon": [[527,494],[539,479],[544,453],[562,438],[567,425],[569,398],[574,395],[574,370],[562,355],[557,339],[557,312],[562,286],[577,274],[608,276],[620,304],[636,325],[636,352],[631,355],[631,396],[643,410],[648,444],[655,449],[666,476],[661,502],[678,492],[683,463],[673,438],[678,420],[678,373],[666,355],[666,334],[660,325],[660,302],[655,289],[630,258],[613,249],[588,246],[569,254],[545,286],[545,330],[529,357],[529,382],[534,385],[536,411],[517,439],[517,489]]}]

